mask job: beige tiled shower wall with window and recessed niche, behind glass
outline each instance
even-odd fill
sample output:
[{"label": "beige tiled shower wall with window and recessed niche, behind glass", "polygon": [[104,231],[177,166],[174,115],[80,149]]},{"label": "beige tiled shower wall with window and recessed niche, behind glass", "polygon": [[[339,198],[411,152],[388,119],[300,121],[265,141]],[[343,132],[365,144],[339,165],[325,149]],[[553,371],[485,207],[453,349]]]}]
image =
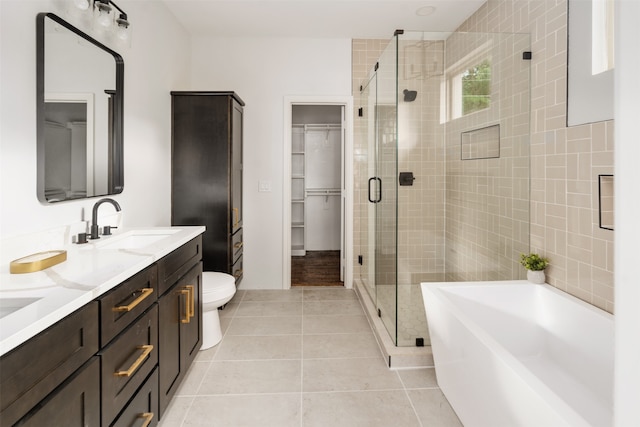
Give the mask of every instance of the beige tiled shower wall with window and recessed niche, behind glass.
[{"label": "beige tiled shower wall with window and recessed niche, behind glass", "polygon": [[[454,75],[491,62],[488,108],[447,122],[446,277],[449,281],[524,278],[529,248],[529,50],[527,35],[455,33],[446,68]],[[497,158],[462,160],[462,134],[500,127]]]}]

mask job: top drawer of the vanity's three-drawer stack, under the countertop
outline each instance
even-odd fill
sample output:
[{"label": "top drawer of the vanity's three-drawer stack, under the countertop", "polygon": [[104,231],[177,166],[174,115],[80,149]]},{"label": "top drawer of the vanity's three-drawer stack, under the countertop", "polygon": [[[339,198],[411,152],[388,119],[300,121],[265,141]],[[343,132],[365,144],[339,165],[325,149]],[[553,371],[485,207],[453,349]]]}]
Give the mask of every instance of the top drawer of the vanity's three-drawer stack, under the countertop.
[{"label": "top drawer of the vanity's three-drawer stack, under the countertop", "polygon": [[104,347],[158,299],[158,268],[153,265],[100,297]]}]

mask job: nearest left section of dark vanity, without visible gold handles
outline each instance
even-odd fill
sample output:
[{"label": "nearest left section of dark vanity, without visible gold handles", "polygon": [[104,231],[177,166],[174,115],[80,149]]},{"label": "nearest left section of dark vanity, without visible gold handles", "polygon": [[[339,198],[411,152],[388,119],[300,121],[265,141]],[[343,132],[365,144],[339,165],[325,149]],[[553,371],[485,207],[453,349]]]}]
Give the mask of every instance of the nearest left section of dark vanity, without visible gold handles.
[{"label": "nearest left section of dark vanity, without visible gold handles", "polygon": [[93,357],[98,335],[94,301],[4,354],[0,425],[56,425],[38,420],[68,416],[68,423],[58,425],[99,426],[100,370]]}]

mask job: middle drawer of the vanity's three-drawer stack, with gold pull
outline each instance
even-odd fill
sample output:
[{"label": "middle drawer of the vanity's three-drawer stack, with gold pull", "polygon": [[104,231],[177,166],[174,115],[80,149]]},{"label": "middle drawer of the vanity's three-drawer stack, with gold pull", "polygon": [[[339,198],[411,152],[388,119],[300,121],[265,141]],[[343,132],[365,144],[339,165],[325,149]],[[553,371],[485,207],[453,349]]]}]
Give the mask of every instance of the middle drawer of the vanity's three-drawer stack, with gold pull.
[{"label": "middle drawer of the vanity's three-drawer stack, with gold pull", "polygon": [[102,356],[102,425],[115,416],[158,363],[158,305],[114,339]]}]

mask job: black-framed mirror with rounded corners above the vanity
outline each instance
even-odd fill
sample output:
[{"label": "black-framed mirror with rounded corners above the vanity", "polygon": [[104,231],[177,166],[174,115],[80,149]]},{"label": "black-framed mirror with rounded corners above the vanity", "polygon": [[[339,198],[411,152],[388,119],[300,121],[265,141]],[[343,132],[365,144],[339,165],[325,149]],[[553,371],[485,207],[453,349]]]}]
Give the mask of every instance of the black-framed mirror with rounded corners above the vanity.
[{"label": "black-framed mirror with rounded corners above the vanity", "polygon": [[36,38],[38,199],[121,193],[122,57],[52,13]]}]

